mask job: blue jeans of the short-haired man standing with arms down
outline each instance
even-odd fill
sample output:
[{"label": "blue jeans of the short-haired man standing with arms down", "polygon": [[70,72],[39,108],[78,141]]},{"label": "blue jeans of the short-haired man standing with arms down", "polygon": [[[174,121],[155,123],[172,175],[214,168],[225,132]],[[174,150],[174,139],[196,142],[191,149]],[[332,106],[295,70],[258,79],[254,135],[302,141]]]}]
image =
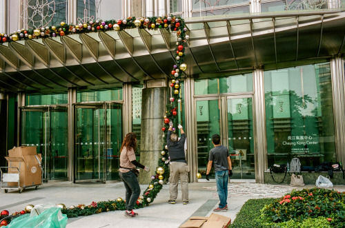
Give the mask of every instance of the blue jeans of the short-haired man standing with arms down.
[{"label": "blue jeans of the short-haired man standing with arms down", "polygon": [[219,170],[215,172],[215,179],[217,184],[217,193],[219,196],[219,208],[224,208],[228,203],[228,181],[229,173],[228,170]]}]

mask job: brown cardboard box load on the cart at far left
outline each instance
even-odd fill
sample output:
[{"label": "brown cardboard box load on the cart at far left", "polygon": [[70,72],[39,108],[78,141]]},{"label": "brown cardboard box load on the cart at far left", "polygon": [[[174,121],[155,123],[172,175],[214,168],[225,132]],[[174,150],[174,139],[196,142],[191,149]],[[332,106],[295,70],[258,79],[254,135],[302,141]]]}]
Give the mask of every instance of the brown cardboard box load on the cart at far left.
[{"label": "brown cardboard box load on the cart at far left", "polygon": [[[36,147],[14,147],[8,151],[9,167],[19,169],[19,186],[27,187],[42,184],[41,154],[36,153]],[[17,174],[18,169],[8,169],[9,174]],[[18,186],[16,182],[9,182],[8,186]]]}]

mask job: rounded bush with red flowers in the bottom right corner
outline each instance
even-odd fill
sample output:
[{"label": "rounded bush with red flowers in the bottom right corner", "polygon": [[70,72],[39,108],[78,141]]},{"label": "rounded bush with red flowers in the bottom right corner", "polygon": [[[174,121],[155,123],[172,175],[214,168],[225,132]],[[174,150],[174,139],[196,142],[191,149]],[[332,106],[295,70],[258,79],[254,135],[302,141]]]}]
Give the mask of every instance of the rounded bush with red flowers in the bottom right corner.
[{"label": "rounded bush with red flowers in the bottom right corner", "polygon": [[[303,223],[307,218],[325,218],[332,227],[345,226],[345,193],[329,189],[303,189],[291,191],[262,209],[265,225],[277,222]],[[320,221],[322,220],[320,218]],[[283,224],[279,225],[283,225]]]}]

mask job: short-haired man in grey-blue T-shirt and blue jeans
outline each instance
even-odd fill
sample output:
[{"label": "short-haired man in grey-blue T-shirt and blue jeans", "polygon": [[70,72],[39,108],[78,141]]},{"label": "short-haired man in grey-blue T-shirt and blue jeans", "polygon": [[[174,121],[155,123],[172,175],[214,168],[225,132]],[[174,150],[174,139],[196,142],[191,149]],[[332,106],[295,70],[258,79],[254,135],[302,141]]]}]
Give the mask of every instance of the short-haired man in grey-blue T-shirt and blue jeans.
[{"label": "short-haired man in grey-blue T-shirt and blue jeans", "polygon": [[219,207],[214,209],[215,212],[227,211],[228,203],[228,178],[233,176],[233,168],[231,166],[230,154],[228,148],[224,145],[220,145],[219,134],[214,134],[212,136],[212,143],[215,146],[210,149],[210,154],[208,157],[206,180],[210,180],[208,175],[212,168],[212,164],[215,163],[215,179],[217,184],[217,193],[219,196]]}]

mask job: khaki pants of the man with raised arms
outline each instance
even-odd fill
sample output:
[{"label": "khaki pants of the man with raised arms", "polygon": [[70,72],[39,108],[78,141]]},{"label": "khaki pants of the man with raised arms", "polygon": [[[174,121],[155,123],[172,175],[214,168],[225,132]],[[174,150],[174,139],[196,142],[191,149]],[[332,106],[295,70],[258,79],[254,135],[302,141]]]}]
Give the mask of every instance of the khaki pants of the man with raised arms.
[{"label": "khaki pants of the man with raised arms", "polygon": [[170,164],[170,200],[176,200],[177,187],[179,186],[179,179],[181,180],[182,201],[188,202],[188,172],[189,168],[186,163],[172,162]]}]

